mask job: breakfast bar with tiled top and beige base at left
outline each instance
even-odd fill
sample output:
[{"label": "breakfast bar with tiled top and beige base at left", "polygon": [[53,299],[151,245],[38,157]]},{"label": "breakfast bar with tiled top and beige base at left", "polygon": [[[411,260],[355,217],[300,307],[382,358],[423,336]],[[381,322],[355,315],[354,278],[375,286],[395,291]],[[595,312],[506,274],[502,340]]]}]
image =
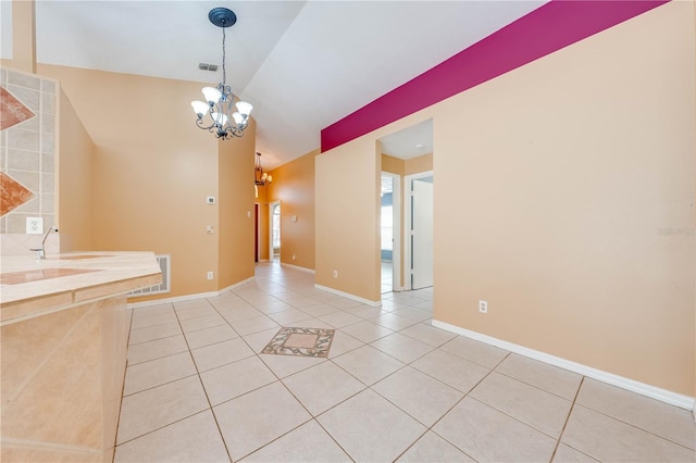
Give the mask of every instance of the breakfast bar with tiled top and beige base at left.
[{"label": "breakfast bar with tiled top and beige base at left", "polygon": [[151,252],[2,256],[1,461],[112,460],[127,293],[161,278]]}]

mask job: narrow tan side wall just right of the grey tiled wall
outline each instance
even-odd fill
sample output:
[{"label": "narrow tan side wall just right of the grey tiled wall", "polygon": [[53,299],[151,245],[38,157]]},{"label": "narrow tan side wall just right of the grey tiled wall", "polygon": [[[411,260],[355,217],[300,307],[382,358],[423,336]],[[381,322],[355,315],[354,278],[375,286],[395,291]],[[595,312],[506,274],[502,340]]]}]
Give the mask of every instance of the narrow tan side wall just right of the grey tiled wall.
[{"label": "narrow tan side wall just right of the grey tiled wall", "polygon": [[61,252],[91,251],[95,145],[65,96],[59,97],[58,218]]}]

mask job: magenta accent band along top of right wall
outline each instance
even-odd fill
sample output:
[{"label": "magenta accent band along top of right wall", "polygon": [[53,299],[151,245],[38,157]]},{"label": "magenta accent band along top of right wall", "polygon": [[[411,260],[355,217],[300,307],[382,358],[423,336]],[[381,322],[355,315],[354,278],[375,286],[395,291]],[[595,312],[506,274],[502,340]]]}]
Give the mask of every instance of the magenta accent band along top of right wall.
[{"label": "magenta accent band along top of right wall", "polygon": [[322,129],[328,151],[669,0],[551,0]]}]

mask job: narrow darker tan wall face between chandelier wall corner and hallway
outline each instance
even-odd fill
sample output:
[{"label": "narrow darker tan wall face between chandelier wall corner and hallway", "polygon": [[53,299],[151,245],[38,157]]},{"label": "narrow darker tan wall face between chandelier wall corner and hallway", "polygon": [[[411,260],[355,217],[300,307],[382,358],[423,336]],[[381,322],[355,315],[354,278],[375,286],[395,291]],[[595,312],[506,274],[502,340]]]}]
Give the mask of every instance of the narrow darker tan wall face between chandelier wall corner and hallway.
[{"label": "narrow darker tan wall face between chandelier wall corner and hallway", "polygon": [[252,121],[244,137],[220,141],[217,289],[253,277],[254,134]]}]

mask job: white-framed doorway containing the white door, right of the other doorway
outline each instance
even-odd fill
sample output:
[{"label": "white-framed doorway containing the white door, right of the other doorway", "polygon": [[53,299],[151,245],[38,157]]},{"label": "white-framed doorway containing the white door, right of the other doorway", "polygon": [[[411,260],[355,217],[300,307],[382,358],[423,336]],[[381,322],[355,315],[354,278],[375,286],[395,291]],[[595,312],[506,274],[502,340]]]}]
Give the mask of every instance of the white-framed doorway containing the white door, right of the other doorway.
[{"label": "white-framed doorway containing the white door, right of the other doorway", "polygon": [[406,177],[410,201],[406,201],[405,240],[407,289],[423,289],[433,286],[433,190],[432,172]]}]

